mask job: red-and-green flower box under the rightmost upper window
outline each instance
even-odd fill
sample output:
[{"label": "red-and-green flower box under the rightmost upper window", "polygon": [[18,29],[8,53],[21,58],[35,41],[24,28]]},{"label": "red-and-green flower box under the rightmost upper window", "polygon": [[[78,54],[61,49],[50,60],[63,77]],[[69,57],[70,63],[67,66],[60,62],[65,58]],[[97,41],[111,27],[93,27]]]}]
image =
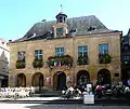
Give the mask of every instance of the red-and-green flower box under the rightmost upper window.
[{"label": "red-and-green flower box under the rightmost upper window", "polygon": [[100,64],[109,64],[112,57],[109,54],[99,54],[99,63]]}]

